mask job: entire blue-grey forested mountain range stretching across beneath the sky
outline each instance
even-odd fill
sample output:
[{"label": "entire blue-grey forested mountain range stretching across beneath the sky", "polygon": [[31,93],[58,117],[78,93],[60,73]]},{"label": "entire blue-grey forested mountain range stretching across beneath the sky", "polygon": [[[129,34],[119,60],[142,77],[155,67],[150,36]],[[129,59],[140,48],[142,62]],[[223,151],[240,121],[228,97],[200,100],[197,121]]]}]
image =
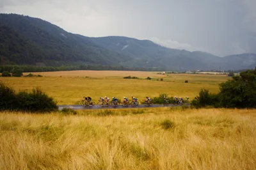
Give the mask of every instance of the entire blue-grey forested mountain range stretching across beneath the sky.
[{"label": "entire blue-grey forested mountain range stretching across beneath the sky", "polygon": [[170,70],[254,68],[256,54],[220,58],[207,52],[168,49],[149,40],[124,36],[90,38],[41,19],[0,14],[1,65],[124,65]]}]

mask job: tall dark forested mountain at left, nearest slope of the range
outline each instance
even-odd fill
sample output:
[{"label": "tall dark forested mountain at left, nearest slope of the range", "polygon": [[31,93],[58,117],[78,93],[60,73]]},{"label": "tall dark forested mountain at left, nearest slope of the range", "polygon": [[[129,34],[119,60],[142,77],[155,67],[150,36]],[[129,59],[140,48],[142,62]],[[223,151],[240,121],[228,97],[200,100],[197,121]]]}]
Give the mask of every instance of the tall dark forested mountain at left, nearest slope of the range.
[{"label": "tall dark forested mountain at left, nearest slope of the range", "polygon": [[[18,52],[19,55],[27,56],[26,60],[20,62],[17,60],[13,61],[8,55],[3,56],[4,52],[5,54],[15,52],[13,49],[5,49],[4,52],[1,52],[2,58],[10,59],[10,63],[33,63],[34,65],[38,62],[45,63],[45,65],[58,65],[58,63],[60,65],[65,63],[118,65],[119,61],[131,60],[129,56],[124,56],[95,45],[90,38],[68,33],[60,27],[41,19],[16,14],[0,14],[0,23],[5,27],[12,28],[19,34],[20,38],[22,37],[22,40],[29,40],[29,42],[43,51],[40,58]],[[1,35],[12,35],[11,32],[4,33],[4,29],[0,31]],[[2,38],[4,37],[2,36]],[[9,44],[12,44],[11,41],[15,40],[10,39]],[[19,44],[22,45],[22,43]],[[26,47],[28,50],[34,48],[34,46],[30,47],[29,45]]]}]

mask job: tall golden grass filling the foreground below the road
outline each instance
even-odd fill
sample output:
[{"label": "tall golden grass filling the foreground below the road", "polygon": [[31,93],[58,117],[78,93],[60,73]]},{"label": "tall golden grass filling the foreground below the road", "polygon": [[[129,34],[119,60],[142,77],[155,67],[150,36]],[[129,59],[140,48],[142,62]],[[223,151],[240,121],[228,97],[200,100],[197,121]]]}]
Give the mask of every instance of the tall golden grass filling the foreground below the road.
[{"label": "tall golden grass filling the foreground below the road", "polygon": [[0,169],[255,169],[255,110],[143,111],[1,112]]}]

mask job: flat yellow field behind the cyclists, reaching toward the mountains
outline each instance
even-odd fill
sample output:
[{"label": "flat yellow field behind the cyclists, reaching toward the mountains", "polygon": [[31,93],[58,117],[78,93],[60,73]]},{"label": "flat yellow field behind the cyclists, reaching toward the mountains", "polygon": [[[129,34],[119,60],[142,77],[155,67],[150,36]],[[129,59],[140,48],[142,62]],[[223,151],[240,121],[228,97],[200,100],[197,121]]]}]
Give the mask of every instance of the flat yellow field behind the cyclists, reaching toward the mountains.
[{"label": "flat yellow field behind the cyclists, reaching toward the mountains", "polygon": [[[26,75],[27,73],[25,73]],[[127,71],[71,71],[35,73],[45,77],[0,77],[0,81],[13,86],[17,91],[39,86],[58,104],[76,104],[83,96],[89,95],[97,101],[99,97],[137,97],[139,101],[146,96],[157,97],[167,93],[170,97],[195,97],[200,89],[218,91],[218,84],[227,81],[227,75],[170,74],[156,72]],[[123,79],[125,76],[141,79]],[[152,77],[152,80],[145,80]],[[156,81],[163,78],[163,81]],[[186,84],[184,81],[188,80]]]}]

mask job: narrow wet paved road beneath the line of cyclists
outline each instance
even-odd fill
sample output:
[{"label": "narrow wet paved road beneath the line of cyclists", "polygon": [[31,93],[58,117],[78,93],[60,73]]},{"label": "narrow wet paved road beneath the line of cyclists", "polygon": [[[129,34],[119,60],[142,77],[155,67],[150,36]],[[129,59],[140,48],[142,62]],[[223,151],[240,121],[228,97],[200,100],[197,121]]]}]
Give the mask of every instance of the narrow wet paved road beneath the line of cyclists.
[{"label": "narrow wet paved road beneath the line of cyclists", "polygon": [[[185,104],[184,104],[185,105]],[[190,106],[189,104],[186,104],[188,106]],[[84,105],[58,105],[59,110],[63,109],[63,108],[71,108],[74,110],[90,110],[90,109],[131,109],[131,108],[148,108],[148,107],[179,107],[180,105],[163,105],[163,104],[154,104],[154,105],[150,105],[150,106],[145,106],[145,105],[137,105],[137,106],[132,106],[132,105],[127,105],[127,106],[123,106],[123,105],[117,105],[116,107],[113,107],[111,105],[109,106],[99,106],[99,105],[94,105],[94,106],[84,106]]]}]

